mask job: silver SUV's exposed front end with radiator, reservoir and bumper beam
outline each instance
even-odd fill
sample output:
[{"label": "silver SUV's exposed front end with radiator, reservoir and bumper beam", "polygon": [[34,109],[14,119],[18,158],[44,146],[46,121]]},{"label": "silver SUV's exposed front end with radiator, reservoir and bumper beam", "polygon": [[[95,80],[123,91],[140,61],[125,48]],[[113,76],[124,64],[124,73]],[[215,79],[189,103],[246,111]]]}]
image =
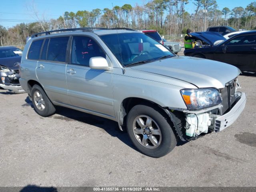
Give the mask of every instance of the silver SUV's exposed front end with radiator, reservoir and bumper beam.
[{"label": "silver SUV's exposed front end with radiator, reservoir and bumper beam", "polygon": [[[238,88],[240,85],[236,78],[226,83],[224,88],[218,89],[221,101],[216,106],[199,110],[169,108],[172,113],[168,114],[181,140],[193,140],[202,133],[219,132],[233,124],[246,105],[246,94],[238,92]],[[182,127],[175,122],[175,111],[184,114]]]}]

